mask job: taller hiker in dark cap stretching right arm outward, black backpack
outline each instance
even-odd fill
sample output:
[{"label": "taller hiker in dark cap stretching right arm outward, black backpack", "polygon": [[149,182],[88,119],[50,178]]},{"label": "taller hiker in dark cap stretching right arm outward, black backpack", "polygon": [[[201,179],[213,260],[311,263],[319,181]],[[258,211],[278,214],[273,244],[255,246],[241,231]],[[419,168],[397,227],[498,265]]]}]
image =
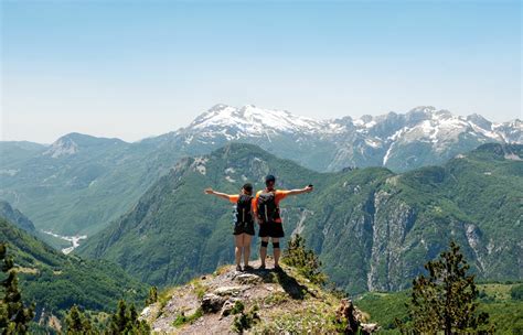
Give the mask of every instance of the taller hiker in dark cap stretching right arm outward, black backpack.
[{"label": "taller hiker in dark cap stretching right arm outward, black backpack", "polygon": [[267,247],[270,238],[273,240],[275,270],[281,270],[279,267],[279,257],[281,255],[279,239],[285,236],[285,233],[279,213],[279,202],[289,195],[312,192],[313,186],[309,185],[300,190],[276,190],[275,184],[276,177],[274,175],[265,177],[266,187],[256,193],[254,210],[258,217],[259,237],[262,238],[262,247],[259,248],[260,269],[265,269],[265,258],[267,257]]}]

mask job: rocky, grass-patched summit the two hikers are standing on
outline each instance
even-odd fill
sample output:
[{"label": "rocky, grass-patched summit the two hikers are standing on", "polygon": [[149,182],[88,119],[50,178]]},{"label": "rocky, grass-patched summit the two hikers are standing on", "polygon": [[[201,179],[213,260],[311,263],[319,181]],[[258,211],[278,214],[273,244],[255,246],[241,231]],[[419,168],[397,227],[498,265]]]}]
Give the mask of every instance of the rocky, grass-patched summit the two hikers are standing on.
[{"label": "rocky, grass-patched summit the two hikers are standing on", "polygon": [[[157,334],[371,334],[369,314],[329,292],[292,267],[239,272],[225,266],[185,285],[169,289],[141,318]],[[353,333],[352,333],[353,332]]]}]

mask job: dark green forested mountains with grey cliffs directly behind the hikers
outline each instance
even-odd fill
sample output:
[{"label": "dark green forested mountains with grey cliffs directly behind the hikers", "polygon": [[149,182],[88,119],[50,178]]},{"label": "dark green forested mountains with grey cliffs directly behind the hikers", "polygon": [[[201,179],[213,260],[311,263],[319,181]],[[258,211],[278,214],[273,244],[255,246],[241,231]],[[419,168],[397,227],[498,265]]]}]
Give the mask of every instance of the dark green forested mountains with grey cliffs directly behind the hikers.
[{"label": "dark green forested mountains with grey cliffs directly behind the hikers", "polygon": [[[233,259],[232,205],[204,187],[285,188],[313,183],[282,203],[287,236],[302,234],[327,273],[348,292],[408,287],[449,240],[480,279],[523,278],[523,145],[489,143],[441,166],[320,173],[252,144],[181,160],[124,216],[79,247],[151,284],[182,283]],[[284,242],[285,245],[285,242]],[[255,251],[256,252],[256,251]]]}]

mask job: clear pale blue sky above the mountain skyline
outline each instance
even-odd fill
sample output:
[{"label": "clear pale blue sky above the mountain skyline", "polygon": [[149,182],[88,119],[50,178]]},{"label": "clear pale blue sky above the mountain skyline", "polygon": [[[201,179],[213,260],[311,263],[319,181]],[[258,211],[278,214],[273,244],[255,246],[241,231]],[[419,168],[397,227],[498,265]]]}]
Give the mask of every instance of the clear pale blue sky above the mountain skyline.
[{"label": "clear pale blue sky above the mountain skyline", "polygon": [[521,1],[1,1],[2,140],[138,140],[211,106],[522,117]]}]

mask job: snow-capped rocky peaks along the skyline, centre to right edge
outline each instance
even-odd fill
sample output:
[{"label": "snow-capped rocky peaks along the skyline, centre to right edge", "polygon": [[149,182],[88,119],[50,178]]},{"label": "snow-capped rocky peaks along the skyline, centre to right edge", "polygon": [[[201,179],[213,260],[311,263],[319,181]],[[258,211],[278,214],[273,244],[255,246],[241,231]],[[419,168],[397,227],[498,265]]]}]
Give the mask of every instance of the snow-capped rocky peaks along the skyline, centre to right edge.
[{"label": "snow-capped rocky peaks along the skyline, centre to right edge", "polygon": [[405,171],[440,163],[485,142],[522,143],[523,125],[493,123],[479,115],[461,117],[426,106],[406,114],[316,120],[252,105],[216,105],[186,128],[157,139],[189,154],[234,140],[320,171],[370,165]]}]

